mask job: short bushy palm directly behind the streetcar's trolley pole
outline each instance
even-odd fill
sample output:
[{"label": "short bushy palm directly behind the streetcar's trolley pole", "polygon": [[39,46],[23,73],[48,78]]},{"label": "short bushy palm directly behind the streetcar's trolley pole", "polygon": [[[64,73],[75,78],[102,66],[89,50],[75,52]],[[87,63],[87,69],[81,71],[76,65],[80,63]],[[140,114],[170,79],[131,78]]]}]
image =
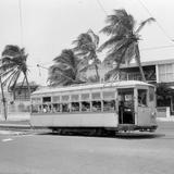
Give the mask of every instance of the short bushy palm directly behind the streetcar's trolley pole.
[{"label": "short bushy palm directly behind the streetcar's trolley pole", "polygon": [[48,82],[50,86],[67,86],[82,84],[83,72],[86,65],[77,58],[71,49],[65,49],[59,57],[53,59],[54,64],[49,67]]}]

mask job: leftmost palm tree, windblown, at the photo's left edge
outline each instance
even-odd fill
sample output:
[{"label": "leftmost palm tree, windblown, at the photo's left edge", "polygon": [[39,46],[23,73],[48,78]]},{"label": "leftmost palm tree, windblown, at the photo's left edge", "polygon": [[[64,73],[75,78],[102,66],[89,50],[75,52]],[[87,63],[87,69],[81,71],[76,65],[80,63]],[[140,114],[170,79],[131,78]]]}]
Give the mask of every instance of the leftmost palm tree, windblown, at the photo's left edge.
[{"label": "leftmost palm tree, windblown, at the photo's left edge", "polygon": [[[30,88],[27,78],[28,67],[26,64],[28,54],[25,53],[24,48],[20,48],[18,46],[8,45],[2,51],[1,58],[1,90],[3,90],[3,86],[8,86],[8,89],[11,87],[15,90],[15,85],[23,74],[23,84],[26,80],[28,94],[30,96]],[[3,91],[2,91],[3,95]],[[2,96],[2,100],[4,100],[4,96]],[[3,105],[5,108],[5,100],[3,101]],[[4,109],[5,110],[5,109]],[[7,113],[4,113],[7,114]]]}]

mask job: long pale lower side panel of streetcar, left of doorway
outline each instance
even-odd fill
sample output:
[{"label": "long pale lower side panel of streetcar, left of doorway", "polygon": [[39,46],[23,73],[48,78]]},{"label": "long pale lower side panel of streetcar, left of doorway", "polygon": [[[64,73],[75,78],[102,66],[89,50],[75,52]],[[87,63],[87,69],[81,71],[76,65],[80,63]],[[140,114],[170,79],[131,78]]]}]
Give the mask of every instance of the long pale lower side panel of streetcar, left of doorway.
[{"label": "long pale lower side panel of streetcar, left of doorway", "polygon": [[30,124],[36,127],[117,127],[117,114],[35,114],[30,117]]}]

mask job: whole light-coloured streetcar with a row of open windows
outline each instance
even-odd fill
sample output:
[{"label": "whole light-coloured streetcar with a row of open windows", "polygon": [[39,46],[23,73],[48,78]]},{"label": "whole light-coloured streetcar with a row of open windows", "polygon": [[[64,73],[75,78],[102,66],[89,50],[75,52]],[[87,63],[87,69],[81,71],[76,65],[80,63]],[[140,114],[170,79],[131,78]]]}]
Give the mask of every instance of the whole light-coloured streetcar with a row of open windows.
[{"label": "whole light-coloured streetcar with a row of open windows", "polygon": [[154,132],[156,87],[139,80],[45,87],[32,94],[30,124],[53,132]]}]

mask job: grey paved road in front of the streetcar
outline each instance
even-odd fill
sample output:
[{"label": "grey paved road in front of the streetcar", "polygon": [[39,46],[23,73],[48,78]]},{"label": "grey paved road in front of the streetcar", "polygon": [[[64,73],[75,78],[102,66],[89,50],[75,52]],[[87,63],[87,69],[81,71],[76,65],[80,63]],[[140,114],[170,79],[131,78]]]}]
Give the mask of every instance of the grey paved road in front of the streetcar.
[{"label": "grey paved road in front of the streetcar", "polygon": [[0,174],[174,173],[174,123],[116,138],[0,134]]}]

